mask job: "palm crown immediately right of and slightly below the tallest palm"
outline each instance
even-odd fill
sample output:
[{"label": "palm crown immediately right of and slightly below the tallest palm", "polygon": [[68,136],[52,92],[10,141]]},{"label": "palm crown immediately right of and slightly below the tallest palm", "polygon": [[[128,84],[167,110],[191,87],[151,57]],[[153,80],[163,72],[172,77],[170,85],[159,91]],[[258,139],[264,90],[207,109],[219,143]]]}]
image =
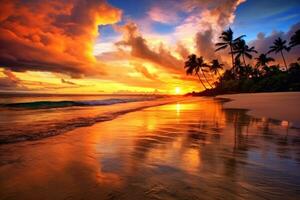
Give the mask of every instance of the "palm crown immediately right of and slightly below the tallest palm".
[{"label": "palm crown immediately right of and slightly below the tallest palm", "polygon": [[234,51],[232,52],[233,54],[236,54],[235,59],[239,59],[241,56],[244,61],[244,66],[246,66],[246,60],[245,56],[249,59],[252,59],[251,53],[257,53],[254,47],[250,47],[246,44],[245,40],[239,39],[236,41],[236,43],[233,46]]}]

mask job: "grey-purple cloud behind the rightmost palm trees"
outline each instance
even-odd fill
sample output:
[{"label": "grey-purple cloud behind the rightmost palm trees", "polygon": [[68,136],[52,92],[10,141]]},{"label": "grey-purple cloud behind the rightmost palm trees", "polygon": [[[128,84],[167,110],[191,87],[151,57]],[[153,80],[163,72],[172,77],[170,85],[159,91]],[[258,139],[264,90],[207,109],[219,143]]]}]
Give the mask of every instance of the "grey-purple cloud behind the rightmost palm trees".
[{"label": "grey-purple cloud behind the rightmost palm trees", "polygon": [[[267,53],[270,50],[269,47],[273,44],[275,39],[281,37],[282,39],[287,41],[288,45],[291,36],[299,29],[300,23],[297,23],[294,26],[292,26],[290,30],[286,33],[273,31],[273,33],[269,36],[266,36],[264,33],[259,33],[257,35],[257,38],[254,41],[250,42],[250,45],[255,46],[256,50],[259,53]],[[295,62],[300,56],[300,47],[296,46],[292,48],[290,52],[284,52],[284,55],[288,63]],[[280,53],[270,53],[270,56],[275,58],[277,63],[283,64],[283,60]]]}]

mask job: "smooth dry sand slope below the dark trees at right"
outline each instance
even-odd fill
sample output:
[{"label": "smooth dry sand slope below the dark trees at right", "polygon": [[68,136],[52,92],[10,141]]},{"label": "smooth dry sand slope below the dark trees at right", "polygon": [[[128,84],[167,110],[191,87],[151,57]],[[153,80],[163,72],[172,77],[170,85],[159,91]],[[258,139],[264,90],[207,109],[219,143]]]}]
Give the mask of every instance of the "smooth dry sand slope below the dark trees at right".
[{"label": "smooth dry sand slope below the dark trees at right", "polygon": [[274,92],[220,95],[231,99],[224,108],[249,109],[248,114],[271,118],[300,128],[300,92]]}]

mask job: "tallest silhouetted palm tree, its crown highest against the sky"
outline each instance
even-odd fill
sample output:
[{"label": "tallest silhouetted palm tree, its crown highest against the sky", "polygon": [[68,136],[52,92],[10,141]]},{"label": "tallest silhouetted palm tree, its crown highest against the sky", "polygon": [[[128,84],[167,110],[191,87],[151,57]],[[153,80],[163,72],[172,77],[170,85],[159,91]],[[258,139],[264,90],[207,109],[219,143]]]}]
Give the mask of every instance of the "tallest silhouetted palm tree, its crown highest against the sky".
[{"label": "tallest silhouetted palm tree, its crown highest against the sky", "polygon": [[233,45],[234,43],[243,38],[245,35],[242,35],[236,39],[233,39],[233,31],[231,30],[231,28],[229,27],[228,30],[225,30],[221,33],[221,36],[219,37],[222,42],[218,42],[216,44],[216,46],[218,47],[215,51],[220,51],[222,49],[226,49],[227,47],[230,48],[230,54],[231,54],[231,62],[232,62],[232,70],[234,69],[235,65],[234,65],[234,58],[233,58]]}]

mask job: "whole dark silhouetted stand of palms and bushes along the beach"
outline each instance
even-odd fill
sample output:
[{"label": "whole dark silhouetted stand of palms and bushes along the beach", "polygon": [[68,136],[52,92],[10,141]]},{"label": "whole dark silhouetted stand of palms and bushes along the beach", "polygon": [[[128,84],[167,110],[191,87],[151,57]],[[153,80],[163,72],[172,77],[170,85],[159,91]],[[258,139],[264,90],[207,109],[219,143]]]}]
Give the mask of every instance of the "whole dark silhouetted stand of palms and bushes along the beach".
[{"label": "whole dark silhouetted stand of palms and bushes along the beach", "polygon": [[[224,71],[224,64],[218,59],[205,62],[203,56],[191,54],[185,61],[184,68],[187,75],[196,75],[204,87],[203,95],[236,92],[264,92],[264,91],[300,91],[300,57],[296,62],[286,62],[285,54],[300,45],[300,29],[290,38],[289,43],[281,37],[275,39],[269,51],[255,57],[254,66],[246,59],[253,59],[258,54],[255,47],[249,47],[244,40],[245,35],[234,38],[231,28],[221,33],[220,42],[216,43],[215,51],[229,49],[232,67]],[[271,53],[280,53],[284,68],[275,62]],[[300,55],[299,55],[300,56]],[[223,73],[221,73],[221,71]],[[217,77],[217,78],[215,78]],[[209,79],[217,80],[215,82]]]}]

